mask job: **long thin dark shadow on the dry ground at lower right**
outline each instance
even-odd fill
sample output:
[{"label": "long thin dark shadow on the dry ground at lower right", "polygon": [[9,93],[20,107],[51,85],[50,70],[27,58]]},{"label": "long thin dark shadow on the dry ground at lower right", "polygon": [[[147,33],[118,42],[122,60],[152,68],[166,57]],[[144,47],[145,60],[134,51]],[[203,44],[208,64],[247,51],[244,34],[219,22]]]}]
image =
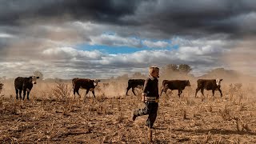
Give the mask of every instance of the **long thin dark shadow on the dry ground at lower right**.
[{"label": "long thin dark shadow on the dry ground at lower right", "polygon": [[186,133],[195,133],[195,134],[224,134],[224,135],[232,135],[232,134],[239,134],[239,135],[256,135],[253,131],[238,131],[238,130],[222,130],[222,129],[210,129],[210,130],[184,130],[184,129],[174,129],[173,131],[180,131]]}]

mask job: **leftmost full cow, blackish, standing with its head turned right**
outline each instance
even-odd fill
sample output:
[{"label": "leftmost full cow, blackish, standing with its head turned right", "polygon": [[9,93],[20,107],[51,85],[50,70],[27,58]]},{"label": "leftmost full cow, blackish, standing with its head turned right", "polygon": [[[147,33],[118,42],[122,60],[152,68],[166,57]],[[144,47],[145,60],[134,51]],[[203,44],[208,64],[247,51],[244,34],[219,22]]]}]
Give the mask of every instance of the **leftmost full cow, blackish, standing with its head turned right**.
[{"label": "leftmost full cow, blackish, standing with its head turned right", "polygon": [[[27,92],[26,99],[29,100],[30,91],[32,90],[33,84],[37,83],[38,78],[39,77],[36,77],[36,76],[31,76],[29,78],[22,78],[22,77],[15,78],[14,86],[16,90],[16,99],[18,99],[18,93],[19,93],[19,98],[24,100]],[[23,90],[23,98],[22,98],[22,90]]]}]

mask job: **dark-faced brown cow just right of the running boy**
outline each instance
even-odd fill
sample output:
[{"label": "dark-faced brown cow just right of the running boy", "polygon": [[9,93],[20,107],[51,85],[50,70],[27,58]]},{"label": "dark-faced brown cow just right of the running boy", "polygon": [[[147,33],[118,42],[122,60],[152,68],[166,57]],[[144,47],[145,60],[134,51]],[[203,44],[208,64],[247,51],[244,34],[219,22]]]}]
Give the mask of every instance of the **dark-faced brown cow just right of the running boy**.
[{"label": "dark-faced brown cow just right of the running boy", "polygon": [[181,97],[182,90],[184,90],[186,86],[190,86],[189,80],[163,80],[160,95],[162,95],[162,92],[166,94],[166,91],[170,89],[178,90],[178,97]]}]

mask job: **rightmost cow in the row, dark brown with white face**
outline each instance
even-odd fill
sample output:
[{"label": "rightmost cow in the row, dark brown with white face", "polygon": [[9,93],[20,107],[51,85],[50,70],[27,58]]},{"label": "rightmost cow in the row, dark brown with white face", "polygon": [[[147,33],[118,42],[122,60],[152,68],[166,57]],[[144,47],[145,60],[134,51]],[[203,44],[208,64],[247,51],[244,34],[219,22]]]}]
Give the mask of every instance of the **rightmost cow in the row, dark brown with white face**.
[{"label": "rightmost cow in the row, dark brown with white face", "polygon": [[213,96],[214,96],[214,91],[218,90],[221,93],[221,97],[222,97],[222,90],[221,88],[221,82],[222,79],[198,79],[198,88],[195,91],[195,95],[194,98],[197,96],[198,94],[198,90],[201,90],[202,95],[203,94],[203,90],[212,90]]}]

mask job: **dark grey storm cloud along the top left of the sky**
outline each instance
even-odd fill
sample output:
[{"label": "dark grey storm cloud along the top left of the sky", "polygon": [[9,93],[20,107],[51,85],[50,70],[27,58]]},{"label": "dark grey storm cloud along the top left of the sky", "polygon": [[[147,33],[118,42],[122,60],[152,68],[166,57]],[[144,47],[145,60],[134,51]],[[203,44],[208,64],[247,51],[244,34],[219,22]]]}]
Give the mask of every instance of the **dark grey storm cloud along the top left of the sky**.
[{"label": "dark grey storm cloud along the top left of the sky", "polygon": [[42,0],[42,1],[2,1],[0,23],[20,24],[22,20],[41,18],[70,18],[99,22],[118,22],[118,18],[133,14],[138,1],[119,0]]}]

